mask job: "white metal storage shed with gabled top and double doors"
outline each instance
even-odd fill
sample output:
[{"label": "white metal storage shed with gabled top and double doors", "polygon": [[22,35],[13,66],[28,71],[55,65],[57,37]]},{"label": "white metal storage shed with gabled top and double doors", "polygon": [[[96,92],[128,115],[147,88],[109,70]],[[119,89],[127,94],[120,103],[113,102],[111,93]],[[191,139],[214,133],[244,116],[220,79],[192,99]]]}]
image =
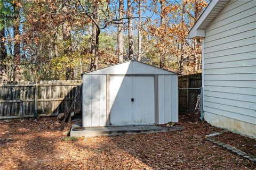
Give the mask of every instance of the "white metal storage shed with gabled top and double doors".
[{"label": "white metal storage shed with gabled top and double doors", "polygon": [[178,122],[178,75],[138,61],[83,73],[83,126]]}]

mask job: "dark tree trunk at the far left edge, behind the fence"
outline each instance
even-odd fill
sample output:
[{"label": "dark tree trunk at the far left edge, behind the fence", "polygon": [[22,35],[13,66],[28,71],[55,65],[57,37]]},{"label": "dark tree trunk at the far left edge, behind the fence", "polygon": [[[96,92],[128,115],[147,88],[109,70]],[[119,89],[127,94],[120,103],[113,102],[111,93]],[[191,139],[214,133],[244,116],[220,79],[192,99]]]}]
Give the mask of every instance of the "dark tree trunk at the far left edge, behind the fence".
[{"label": "dark tree trunk at the far left edge, behind the fence", "polygon": [[0,80],[7,80],[7,74],[6,74],[6,65],[2,63],[1,61],[5,60],[7,57],[6,52],[6,46],[4,45],[4,41],[2,41],[3,38],[5,38],[5,28],[0,30]]}]

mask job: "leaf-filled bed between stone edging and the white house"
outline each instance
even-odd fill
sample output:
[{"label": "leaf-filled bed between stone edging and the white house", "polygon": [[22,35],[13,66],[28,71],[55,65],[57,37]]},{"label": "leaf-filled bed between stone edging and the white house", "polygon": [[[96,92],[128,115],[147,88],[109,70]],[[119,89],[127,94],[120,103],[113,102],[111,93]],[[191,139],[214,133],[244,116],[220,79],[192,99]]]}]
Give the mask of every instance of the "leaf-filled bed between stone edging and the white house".
[{"label": "leaf-filled bed between stone edging and the white house", "polygon": [[242,150],[246,154],[256,156],[256,139],[247,138],[232,132],[222,133],[213,137],[213,139]]}]

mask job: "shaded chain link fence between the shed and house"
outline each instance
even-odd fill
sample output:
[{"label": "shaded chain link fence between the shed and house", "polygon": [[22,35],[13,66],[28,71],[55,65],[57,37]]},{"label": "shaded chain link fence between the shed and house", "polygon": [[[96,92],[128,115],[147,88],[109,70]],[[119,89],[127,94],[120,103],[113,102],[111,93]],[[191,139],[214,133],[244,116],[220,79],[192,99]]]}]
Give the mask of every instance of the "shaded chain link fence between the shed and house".
[{"label": "shaded chain link fence between the shed and house", "polygon": [[202,88],[179,88],[179,114],[203,119]]}]

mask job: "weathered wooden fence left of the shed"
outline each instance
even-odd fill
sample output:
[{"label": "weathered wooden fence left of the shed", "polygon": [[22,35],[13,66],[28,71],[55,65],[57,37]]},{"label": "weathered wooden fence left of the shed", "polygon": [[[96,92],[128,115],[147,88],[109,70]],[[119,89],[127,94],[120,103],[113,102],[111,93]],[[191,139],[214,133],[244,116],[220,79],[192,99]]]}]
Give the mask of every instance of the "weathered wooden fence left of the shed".
[{"label": "weathered wooden fence left of the shed", "polygon": [[[0,82],[0,119],[65,113],[79,86],[81,80]],[[75,109],[81,107],[81,95],[79,91]]]}]

